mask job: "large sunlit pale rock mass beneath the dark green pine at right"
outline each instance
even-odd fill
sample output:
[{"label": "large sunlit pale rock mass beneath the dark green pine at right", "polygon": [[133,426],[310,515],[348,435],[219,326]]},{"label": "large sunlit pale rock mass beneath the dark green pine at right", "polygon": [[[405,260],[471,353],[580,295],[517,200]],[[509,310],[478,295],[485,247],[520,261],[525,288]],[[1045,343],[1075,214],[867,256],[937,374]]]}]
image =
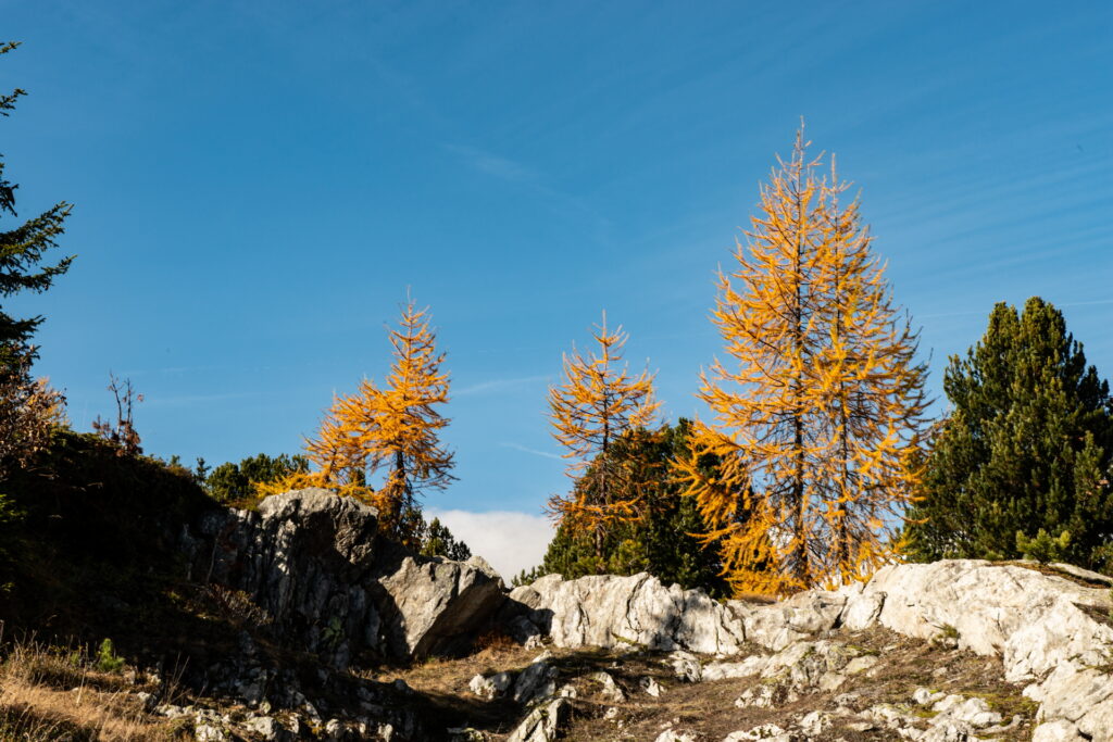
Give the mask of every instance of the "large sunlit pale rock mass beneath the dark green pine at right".
[{"label": "large sunlit pale rock mass beneath the dark green pine at right", "polygon": [[[1070,567],[1094,585],[1109,578]],[[848,588],[849,605],[880,603],[876,621],[909,636],[953,635],[961,649],[999,655],[1005,679],[1027,682],[1048,739],[1113,740],[1113,621],[1106,586],[979,561],[907,564]]]}]

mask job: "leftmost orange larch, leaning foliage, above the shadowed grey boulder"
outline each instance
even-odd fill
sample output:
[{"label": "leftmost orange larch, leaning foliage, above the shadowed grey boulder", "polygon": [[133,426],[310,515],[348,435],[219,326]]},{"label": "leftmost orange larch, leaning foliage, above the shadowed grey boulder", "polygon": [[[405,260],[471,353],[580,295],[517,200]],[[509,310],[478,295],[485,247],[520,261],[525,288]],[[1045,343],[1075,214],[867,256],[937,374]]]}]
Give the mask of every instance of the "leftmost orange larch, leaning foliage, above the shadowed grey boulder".
[{"label": "leftmost orange larch, leaning foliage, above the shadowed grey boulder", "polygon": [[[449,400],[449,374],[441,370],[444,354],[436,352],[427,308],[408,300],[390,338],[394,360],[386,387],[364,379],[355,394],[336,397],[316,437],[306,441],[314,471],[265,485],[264,494],[334,488],[377,507],[380,527],[405,543],[421,524],[417,497],[453,479],[452,453],[440,442],[449,419],[437,412]],[[368,484],[376,472],[383,472],[378,489]]]}]

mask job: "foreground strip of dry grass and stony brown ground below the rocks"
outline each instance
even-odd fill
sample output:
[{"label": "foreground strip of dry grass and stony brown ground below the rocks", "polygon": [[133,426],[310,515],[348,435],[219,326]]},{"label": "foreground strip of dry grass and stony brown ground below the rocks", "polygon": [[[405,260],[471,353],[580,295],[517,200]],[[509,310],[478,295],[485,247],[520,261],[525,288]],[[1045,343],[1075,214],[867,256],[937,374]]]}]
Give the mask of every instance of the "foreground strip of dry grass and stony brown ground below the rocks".
[{"label": "foreground strip of dry grass and stony brown ground below the rocks", "polygon": [[729,659],[486,641],[465,657],[359,673],[406,696],[396,702],[423,720],[420,735],[376,721],[373,704],[325,718],[308,700],[236,703],[24,653],[3,696],[24,722],[37,713],[39,733],[13,723],[7,739],[1027,740],[1037,709],[998,661],[879,627]]}]

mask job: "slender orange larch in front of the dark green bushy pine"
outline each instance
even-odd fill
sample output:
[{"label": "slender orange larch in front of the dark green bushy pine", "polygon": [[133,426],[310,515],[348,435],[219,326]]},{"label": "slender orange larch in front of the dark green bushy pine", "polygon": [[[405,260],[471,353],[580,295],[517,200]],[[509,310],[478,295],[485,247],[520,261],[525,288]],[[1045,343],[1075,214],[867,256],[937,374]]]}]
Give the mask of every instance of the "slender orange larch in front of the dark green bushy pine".
[{"label": "slender orange larch in front of the dark green bushy pine", "polygon": [[619,436],[650,425],[660,406],[653,399],[653,376],[643,370],[631,376],[622,360],[622,346],[628,335],[607,328],[607,313],[602,325],[595,326],[592,337],[599,344],[599,354],[584,356],[575,347],[565,354],[564,382],[549,389],[550,421],[553,436],[567,448],[569,476],[575,477],[591,467],[593,481],[574,488],[568,496],[553,495],[549,511],[563,523],[594,531],[595,556],[602,556],[603,536],[608,524],[634,517],[637,499],[615,499],[612,479],[614,467],[608,459],[612,442]]}]

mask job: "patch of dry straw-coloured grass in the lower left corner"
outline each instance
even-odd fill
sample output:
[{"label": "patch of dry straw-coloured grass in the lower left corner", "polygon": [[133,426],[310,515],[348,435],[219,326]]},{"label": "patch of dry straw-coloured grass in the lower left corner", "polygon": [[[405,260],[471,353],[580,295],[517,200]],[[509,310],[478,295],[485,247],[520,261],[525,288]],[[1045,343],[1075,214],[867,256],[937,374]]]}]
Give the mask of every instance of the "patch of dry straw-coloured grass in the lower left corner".
[{"label": "patch of dry straw-coloured grass in the lower left corner", "polygon": [[82,652],[16,644],[0,664],[0,739],[174,739],[176,725],[147,714],[138,690],[119,673],[93,669]]}]

